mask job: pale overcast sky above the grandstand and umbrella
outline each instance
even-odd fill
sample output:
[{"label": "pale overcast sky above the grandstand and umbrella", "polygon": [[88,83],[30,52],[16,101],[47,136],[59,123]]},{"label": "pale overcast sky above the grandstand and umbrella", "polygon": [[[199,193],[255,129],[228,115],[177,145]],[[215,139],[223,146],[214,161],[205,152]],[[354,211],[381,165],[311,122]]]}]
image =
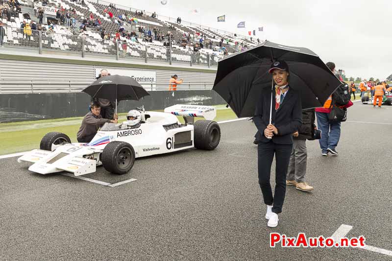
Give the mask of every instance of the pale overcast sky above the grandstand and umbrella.
[{"label": "pale overcast sky above the grandstand and umbrella", "polygon": [[[382,80],[392,74],[391,0],[111,1],[243,35],[256,29],[260,40],[313,50],[347,77]],[[191,12],[196,8],[198,15]],[[226,22],[217,22],[221,15]],[[237,29],[241,21],[245,29]],[[260,26],[264,33],[257,32]]]}]

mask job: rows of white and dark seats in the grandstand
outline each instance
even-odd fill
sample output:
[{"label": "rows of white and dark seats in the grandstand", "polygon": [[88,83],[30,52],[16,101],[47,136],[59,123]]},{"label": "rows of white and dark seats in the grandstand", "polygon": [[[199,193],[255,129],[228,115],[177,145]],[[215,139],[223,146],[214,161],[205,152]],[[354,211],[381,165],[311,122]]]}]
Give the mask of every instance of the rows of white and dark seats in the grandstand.
[{"label": "rows of white and dark seats in the grandstand", "polygon": [[[40,2],[38,4],[40,4]],[[49,0],[49,5],[62,7],[67,10],[74,8],[76,10],[74,17],[78,23],[81,23],[85,19],[88,20],[92,13],[95,18],[99,18],[101,21],[100,27],[105,28],[105,33],[109,33],[112,40],[103,40],[100,35],[99,27],[88,27],[87,31],[76,33],[72,28],[67,26],[55,25],[55,33],[49,33],[49,26],[45,25],[47,30],[42,32],[42,47],[44,49],[81,52],[82,46],[84,45],[84,52],[88,54],[116,55],[117,43],[113,39],[120,27],[120,25],[116,23],[120,15],[130,15],[131,17],[138,19],[137,23],[132,24],[123,21],[125,30],[128,32],[135,31],[138,36],[140,36],[140,26],[144,26],[146,30],[150,29],[152,32],[154,31],[154,28],[156,28],[165,35],[164,40],[169,44],[168,32],[171,32],[171,57],[172,61],[175,62],[192,62],[194,64],[204,65],[207,65],[210,62],[211,65],[216,65],[218,60],[224,56],[222,49],[218,47],[221,38],[224,39],[221,47],[225,47],[229,53],[237,51],[239,45],[246,45],[249,47],[256,45],[254,41],[251,42],[230,33],[224,34],[213,31],[205,26],[203,27],[190,23],[177,24],[170,21],[171,19],[169,18],[160,18],[159,16],[153,18],[147,14],[144,14],[143,16],[140,14],[136,15],[131,9],[110,8],[107,5],[96,2],[86,1],[85,5],[82,5],[77,1],[71,0]],[[104,9],[112,12],[114,17],[110,19],[105,16]],[[7,22],[4,18],[2,20],[7,24],[7,27],[5,27],[6,35],[4,37],[4,45],[27,48],[39,47],[38,32],[33,31],[31,36],[26,36],[23,33],[23,29],[20,28],[21,22],[30,22],[30,20],[24,19],[22,14],[19,14],[18,17],[11,17],[11,22]],[[186,39],[188,35],[191,37],[190,41]],[[154,33],[152,33],[152,36],[154,36]],[[204,40],[204,48],[194,52],[193,45],[198,43],[201,38]],[[167,47],[163,45],[163,42],[155,40],[152,40],[152,43],[144,42],[143,38],[133,40],[134,41],[125,37],[120,37],[118,50],[121,57],[145,59],[147,55],[147,59],[169,61],[170,52]],[[212,48],[215,50],[209,49],[205,40],[210,40],[212,42]],[[185,47],[180,46],[183,41],[186,43]],[[238,46],[235,45],[236,42],[238,43]],[[208,61],[208,57],[210,57],[210,61]]]}]

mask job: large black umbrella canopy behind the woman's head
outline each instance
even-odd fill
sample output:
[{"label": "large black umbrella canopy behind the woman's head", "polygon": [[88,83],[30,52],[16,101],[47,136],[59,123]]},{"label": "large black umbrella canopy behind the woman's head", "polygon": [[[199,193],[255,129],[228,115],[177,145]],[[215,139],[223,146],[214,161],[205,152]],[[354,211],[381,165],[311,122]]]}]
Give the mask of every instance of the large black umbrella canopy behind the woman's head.
[{"label": "large black umbrella canopy behind the woman's head", "polygon": [[276,60],[289,65],[290,88],[301,93],[302,109],[323,106],[342,83],[313,51],[266,41],[221,59],[213,90],[237,117],[253,117],[261,90],[272,87],[268,71]]}]

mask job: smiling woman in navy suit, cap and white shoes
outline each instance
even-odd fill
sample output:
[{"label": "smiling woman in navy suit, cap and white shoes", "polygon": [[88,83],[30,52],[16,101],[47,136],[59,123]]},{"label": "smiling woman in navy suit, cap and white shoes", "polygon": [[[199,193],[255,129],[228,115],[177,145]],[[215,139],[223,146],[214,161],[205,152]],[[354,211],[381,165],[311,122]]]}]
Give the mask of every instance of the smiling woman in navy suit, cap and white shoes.
[{"label": "smiling woman in navy suit, cap and white shoes", "polygon": [[[288,82],[289,66],[285,61],[271,64],[275,88],[264,89],[256,103],[253,122],[257,127],[257,165],[259,185],[264,203],[267,205],[267,226],[278,225],[278,214],[282,212],[286,193],[286,174],[293,147],[292,134],[301,126],[301,97]],[[274,99],[271,99],[271,96]],[[270,112],[270,106],[272,107]],[[271,121],[270,121],[271,113]],[[270,174],[275,156],[275,192],[272,195]]]}]

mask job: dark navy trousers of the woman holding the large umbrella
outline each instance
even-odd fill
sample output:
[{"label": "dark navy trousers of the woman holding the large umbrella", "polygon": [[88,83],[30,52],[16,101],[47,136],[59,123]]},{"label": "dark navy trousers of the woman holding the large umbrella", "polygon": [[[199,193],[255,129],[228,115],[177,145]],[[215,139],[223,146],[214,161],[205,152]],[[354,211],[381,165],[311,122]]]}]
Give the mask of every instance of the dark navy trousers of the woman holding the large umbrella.
[{"label": "dark navy trousers of the woman holding the large umbrella", "polygon": [[[289,167],[293,144],[275,144],[273,142],[259,142],[257,147],[257,165],[259,171],[259,184],[263,194],[264,203],[272,205],[272,212],[282,212],[286,194],[286,174]],[[273,156],[275,155],[275,193],[272,196],[270,174]]]}]

